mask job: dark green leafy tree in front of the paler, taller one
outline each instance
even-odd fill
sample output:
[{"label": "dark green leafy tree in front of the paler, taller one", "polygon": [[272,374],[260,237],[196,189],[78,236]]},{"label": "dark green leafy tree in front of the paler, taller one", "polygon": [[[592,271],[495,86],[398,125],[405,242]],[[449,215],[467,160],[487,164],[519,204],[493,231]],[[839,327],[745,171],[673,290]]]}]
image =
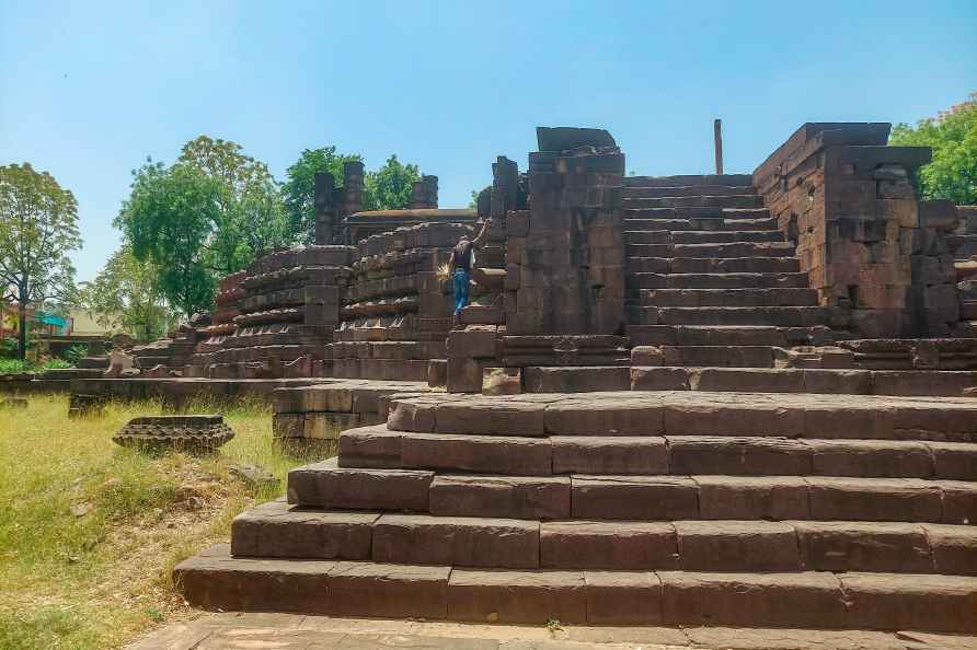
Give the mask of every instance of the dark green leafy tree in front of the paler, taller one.
[{"label": "dark green leafy tree in front of the paler, taller one", "polygon": [[188,164],[165,167],[151,161],[133,177],[129,198],[115,219],[133,256],[152,265],[156,286],[183,314],[209,310],[217,275],[226,270],[211,266],[219,257],[216,247],[233,242],[216,232],[219,183]]}]

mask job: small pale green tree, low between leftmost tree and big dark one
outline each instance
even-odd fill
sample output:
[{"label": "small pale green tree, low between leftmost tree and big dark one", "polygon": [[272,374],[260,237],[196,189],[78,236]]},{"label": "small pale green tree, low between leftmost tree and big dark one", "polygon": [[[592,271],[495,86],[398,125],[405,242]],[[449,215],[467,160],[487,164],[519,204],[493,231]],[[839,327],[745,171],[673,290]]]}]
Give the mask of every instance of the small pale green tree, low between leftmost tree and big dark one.
[{"label": "small pale green tree, low between leftmost tree and big dark one", "polygon": [[82,283],[80,302],[103,327],[130,334],[140,341],[153,340],[176,320],[158,278],[151,260],[137,259],[131,247],[124,245],[94,280]]}]

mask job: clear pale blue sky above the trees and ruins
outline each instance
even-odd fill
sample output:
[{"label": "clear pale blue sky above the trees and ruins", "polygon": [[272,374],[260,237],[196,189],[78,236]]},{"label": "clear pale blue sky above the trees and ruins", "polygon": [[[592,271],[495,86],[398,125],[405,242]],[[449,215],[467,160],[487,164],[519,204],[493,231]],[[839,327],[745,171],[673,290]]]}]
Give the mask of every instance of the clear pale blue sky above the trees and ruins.
[{"label": "clear pale blue sky above the trees and ruins", "polygon": [[0,164],[71,189],[91,279],[130,171],[200,134],[279,178],[390,153],[468,204],[537,125],[608,128],[639,174],[749,172],[804,121],[915,121],[977,91],[977,2],[0,0]]}]

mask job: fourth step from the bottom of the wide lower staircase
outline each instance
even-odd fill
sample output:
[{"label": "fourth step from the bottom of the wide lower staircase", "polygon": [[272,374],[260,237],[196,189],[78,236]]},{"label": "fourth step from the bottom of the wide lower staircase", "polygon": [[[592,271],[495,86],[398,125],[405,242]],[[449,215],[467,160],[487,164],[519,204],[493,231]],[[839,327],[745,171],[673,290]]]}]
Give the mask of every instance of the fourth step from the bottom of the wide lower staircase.
[{"label": "fourth step from the bottom of the wide lower staircase", "polygon": [[550,476],[713,475],[977,477],[977,444],[908,440],[794,439],[775,434],[549,436],[416,433],[386,426],[340,436],[343,468],[433,469]]}]

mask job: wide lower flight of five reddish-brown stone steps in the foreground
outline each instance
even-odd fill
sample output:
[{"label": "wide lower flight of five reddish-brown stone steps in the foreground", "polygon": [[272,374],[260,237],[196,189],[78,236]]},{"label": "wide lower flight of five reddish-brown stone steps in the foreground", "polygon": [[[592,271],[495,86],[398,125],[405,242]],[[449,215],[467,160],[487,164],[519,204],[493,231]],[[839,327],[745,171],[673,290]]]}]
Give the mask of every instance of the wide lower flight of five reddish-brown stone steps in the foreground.
[{"label": "wide lower flight of five reddish-brown stone steps in the foreground", "polygon": [[977,631],[977,402],[393,395],[176,569],[220,610]]}]

